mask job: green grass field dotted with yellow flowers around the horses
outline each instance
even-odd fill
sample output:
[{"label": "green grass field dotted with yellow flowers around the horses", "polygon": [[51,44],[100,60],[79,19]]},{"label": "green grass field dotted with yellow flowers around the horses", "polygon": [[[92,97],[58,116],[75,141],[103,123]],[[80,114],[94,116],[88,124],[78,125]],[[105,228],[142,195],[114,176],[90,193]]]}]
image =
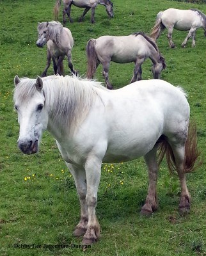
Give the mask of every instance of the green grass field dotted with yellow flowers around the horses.
[{"label": "green grass field dotted with yellow flowers around the horses", "polygon": [[[191,212],[178,215],[180,186],[171,177],[166,164],[161,164],[158,181],[159,211],[150,218],[139,215],[147,195],[148,175],[143,159],[120,164],[102,165],[97,217],[102,228],[101,239],[84,251],[72,248],[81,239],[72,237],[79,221],[79,200],[74,180],[56,148],[54,139],[44,133],[40,152],[25,156],[17,148],[19,125],[13,110],[13,77],[36,77],[45,67],[46,47],[36,47],[38,22],[53,20],[55,1],[2,0],[0,33],[0,255],[206,255],[206,170],[205,159],[195,172],[187,175],[193,198]],[[129,35],[136,31],[150,33],[157,12],[167,8],[198,8],[206,13],[205,4],[189,4],[168,0],[114,0],[114,19],[107,17],[104,6],[95,12],[95,24],[90,12],[84,22],[77,22],[83,12],[72,6],[72,31],[75,69],[86,72],[86,42],[101,35]],[[62,15],[59,13],[59,20]],[[191,119],[198,127],[198,147],[206,150],[206,86],[203,29],[196,33],[196,47],[189,40],[186,49],[180,46],[186,31],[174,31],[175,49],[168,47],[166,31],[157,41],[166,59],[162,79],[182,86],[188,93]],[[104,81],[102,67],[95,78]],[[110,80],[114,88],[129,83],[134,65],[111,63]],[[143,64],[143,79],[151,79],[151,63]],[[52,74],[52,67],[48,70]],[[65,74],[69,74],[65,61]],[[33,248],[16,248],[24,244]],[[44,247],[46,244],[46,248]],[[54,248],[52,245],[70,245]],[[42,248],[38,248],[38,246]]]}]

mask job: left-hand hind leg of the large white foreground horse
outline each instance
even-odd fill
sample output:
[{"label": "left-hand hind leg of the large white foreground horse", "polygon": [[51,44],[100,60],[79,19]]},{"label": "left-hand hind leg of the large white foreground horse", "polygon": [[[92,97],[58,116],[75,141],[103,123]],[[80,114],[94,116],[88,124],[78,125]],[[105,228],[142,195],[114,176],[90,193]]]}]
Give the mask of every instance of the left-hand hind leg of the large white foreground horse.
[{"label": "left-hand hind leg of the large white foreground horse", "polygon": [[145,201],[145,205],[141,207],[141,214],[150,215],[152,212],[157,211],[157,172],[158,172],[158,164],[157,164],[157,147],[155,146],[150,152],[145,155],[145,163],[148,168],[148,178],[149,178],[149,186],[148,186],[148,194]]}]

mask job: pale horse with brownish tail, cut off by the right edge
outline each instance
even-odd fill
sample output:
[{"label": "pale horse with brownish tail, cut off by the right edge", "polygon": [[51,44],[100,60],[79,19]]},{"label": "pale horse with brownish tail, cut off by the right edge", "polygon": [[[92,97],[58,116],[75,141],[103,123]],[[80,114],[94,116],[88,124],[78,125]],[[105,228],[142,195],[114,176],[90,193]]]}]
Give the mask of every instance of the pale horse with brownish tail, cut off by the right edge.
[{"label": "pale horse with brownish tail, cut off by the right edge", "polygon": [[197,9],[178,10],[170,8],[157,14],[156,23],[150,36],[157,40],[165,28],[168,29],[168,40],[171,48],[175,47],[171,40],[173,28],[183,31],[189,30],[186,39],[182,42],[182,47],[186,47],[190,37],[193,38],[192,47],[194,47],[196,29],[203,28],[206,36],[206,16]]}]

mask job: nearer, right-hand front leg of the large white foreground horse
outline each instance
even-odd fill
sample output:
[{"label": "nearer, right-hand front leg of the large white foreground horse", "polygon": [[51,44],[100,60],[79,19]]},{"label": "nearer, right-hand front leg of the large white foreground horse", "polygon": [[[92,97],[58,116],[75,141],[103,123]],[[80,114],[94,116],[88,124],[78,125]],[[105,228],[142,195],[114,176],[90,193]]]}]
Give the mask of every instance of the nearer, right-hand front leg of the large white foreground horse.
[{"label": "nearer, right-hand front leg of the large white foreground horse", "polygon": [[90,157],[86,161],[86,204],[88,205],[88,225],[86,233],[84,234],[83,244],[92,244],[96,242],[100,237],[100,225],[95,214],[95,208],[97,206],[97,191],[100,182],[102,162],[98,157]]}]

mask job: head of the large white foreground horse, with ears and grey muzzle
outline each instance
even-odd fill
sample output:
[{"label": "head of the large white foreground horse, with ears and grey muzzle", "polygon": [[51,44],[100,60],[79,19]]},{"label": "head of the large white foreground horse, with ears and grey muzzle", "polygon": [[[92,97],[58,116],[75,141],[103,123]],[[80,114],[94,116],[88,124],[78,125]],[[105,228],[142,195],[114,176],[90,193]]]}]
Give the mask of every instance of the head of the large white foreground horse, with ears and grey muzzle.
[{"label": "head of the large white foreground horse, with ears and grey muzzle", "polygon": [[41,77],[20,80],[15,76],[14,84],[13,99],[20,125],[18,147],[24,154],[34,154],[38,152],[42,131],[48,124],[43,81]]}]

